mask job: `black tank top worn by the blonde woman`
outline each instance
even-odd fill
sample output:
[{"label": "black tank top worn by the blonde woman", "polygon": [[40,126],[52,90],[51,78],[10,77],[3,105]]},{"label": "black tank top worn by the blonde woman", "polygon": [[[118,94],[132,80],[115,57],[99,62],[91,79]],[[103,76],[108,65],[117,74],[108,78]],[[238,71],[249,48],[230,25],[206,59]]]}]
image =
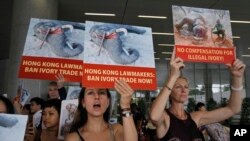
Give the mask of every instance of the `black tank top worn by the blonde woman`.
[{"label": "black tank top worn by the blonde woman", "polygon": [[186,120],[180,120],[166,109],[170,117],[170,126],[162,141],[205,141],[196,123],[187,113]]}]

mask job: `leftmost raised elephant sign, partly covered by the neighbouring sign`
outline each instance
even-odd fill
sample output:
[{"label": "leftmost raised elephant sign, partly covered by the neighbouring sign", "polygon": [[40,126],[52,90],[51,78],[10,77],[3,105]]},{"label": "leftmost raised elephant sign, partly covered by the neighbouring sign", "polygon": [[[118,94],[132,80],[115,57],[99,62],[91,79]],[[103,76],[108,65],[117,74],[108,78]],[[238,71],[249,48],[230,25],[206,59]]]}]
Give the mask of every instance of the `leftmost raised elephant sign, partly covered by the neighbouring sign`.
[{"label": "leftmost raised elephant sign, partly covered by the neighbouring sign", "polygon": [[30,20],[19,77],[81,82],[84,50],[84,23]]}]

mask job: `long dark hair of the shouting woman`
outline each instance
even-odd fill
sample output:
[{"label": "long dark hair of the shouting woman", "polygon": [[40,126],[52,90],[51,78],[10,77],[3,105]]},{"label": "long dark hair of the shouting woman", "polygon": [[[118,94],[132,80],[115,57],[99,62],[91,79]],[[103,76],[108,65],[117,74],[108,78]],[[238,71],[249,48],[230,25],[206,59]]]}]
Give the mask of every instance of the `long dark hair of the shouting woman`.
[{"label": "long dark hair of the shouting woman", "polygon": [[[79,104],[77,107],[77,112],[71,124],[70,132],[77,131],[80,127],[84,126],[88,121],[87,110],[86,108],[82,106],[82,99],[84,98],[85,89],[86,89],[85,87],[81,89],[81,92],[78,98]],[[111,94],[108,89],[106,90],[107,90],[107,96],[110,99],[110,103],[111,103]],[[106,122],[108,122],[110,118],[110,109],[111,109],[111,104],[109,104],[107,110],[103,114],[103,119]]]}]

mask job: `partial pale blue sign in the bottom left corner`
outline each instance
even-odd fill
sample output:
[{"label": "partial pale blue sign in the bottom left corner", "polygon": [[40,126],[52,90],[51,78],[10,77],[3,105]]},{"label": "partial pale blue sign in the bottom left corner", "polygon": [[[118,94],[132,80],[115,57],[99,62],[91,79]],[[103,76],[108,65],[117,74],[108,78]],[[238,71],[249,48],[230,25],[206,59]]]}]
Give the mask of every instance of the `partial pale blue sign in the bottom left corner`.
[{"label": "partial pale blue sign in the bottom left corner", "polygon": [[0,113],[0,140],[23,141],[27,120],[27,115]]}]

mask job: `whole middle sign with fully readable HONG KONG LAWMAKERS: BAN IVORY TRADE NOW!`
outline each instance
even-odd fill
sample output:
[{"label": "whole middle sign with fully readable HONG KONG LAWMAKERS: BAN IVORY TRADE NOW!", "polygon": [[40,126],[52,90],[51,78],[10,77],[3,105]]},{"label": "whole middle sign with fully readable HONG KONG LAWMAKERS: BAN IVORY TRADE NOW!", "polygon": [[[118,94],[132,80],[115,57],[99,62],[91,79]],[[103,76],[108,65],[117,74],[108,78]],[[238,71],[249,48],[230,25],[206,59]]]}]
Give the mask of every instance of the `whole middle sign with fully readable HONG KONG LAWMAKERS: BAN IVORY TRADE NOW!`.
[{"label": "whole middle sign with fully readable HONG KONG LAWMAKERS: BAN IVORY TRADE NOW!", "polygon": [[83,86],[113,88],[125,79],[134,89],[156,89],[151,28],[86,21]]}]

